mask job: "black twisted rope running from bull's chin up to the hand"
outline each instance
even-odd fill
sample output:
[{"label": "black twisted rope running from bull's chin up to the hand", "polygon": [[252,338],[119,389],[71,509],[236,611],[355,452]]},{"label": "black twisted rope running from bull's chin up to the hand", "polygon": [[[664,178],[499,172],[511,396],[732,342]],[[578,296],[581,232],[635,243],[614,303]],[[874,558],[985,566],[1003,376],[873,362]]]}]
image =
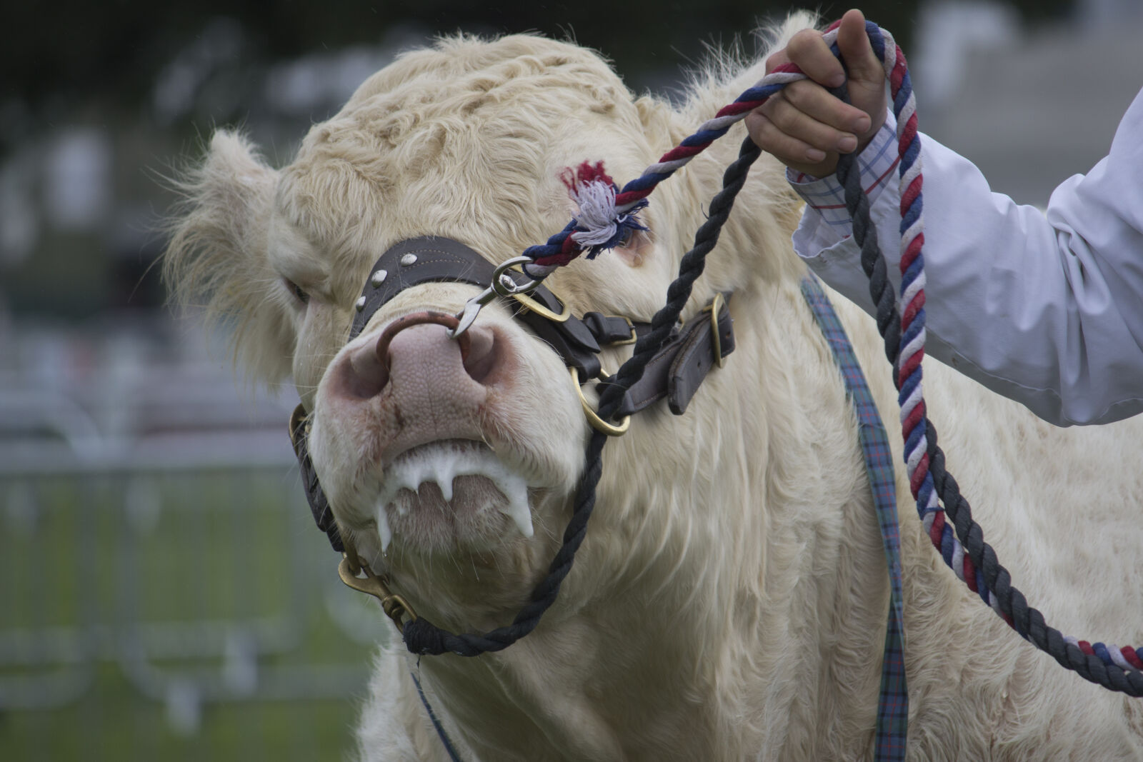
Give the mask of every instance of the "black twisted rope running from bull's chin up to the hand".
[{"label": "black twisted rope running from bull's chin up to the hand", "polygon": [[[679,276],[666,291],[666,304],[652,319],[652,329],[636,342],[634,353],[620,367],[615,376],[601,385],[599,416],[612,418],[623,401],[623,394],[640,378],[655,353],[658,352],[679,321],[682,310],[690,298],[695,281],[703,273],[706,255],[718,243],[719,233],[734,207],[734,199],[746,181],[750,166],[758,159],[760,150],[749,137],[742,143],[738,158],[722,175],[722,190],[711,200],[710,215],[695,233],[695,244],[682,256]],[[405,624],[402,636],[406,647],[414,653],[437,655],[451,651],[459,656],[478,656],[487,651],[499,651],[520,640],[539,624],[539,618],[555,601],[563,578],[572,571],[575,553],[588,531],[588,520],[596,507],[596,488],[602,475],[602,452],[607,436],[593,432],[588,442],[585,466],[576,489],[572,520],[563,530],[563,544],[547,569],[547,576],[531,591],[527,604],[520,609],[512,624],[497,627],[483,634],[455,634],[437,627],[424,617]]]}]

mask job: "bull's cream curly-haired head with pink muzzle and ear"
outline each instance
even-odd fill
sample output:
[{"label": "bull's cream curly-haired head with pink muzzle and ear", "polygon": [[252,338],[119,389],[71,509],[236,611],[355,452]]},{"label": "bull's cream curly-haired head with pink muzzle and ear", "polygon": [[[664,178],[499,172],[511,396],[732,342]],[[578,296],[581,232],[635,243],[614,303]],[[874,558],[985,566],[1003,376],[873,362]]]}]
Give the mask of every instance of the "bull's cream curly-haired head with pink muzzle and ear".
[{"label": "bull's cream curly-haired head with pink muzzle and ear", "polygon": [[[185,300],[237,318],[235,354],[256,377],[293,374],[343,537],[439,624],[494,627],[527,597],[559,546],[590,430],[563,360],[509,306],[490,304],[463,340],[448,335],[439,316],[456,314],[474,286],[401,290],[346,342],[374,263],[424,235],[491,263],[513,257],[577,212],[565,168],[604,161],[620,183],[636,177],[759,73],[704,82],[673,110],[633,98],[572,45],[446,40],[367,80],[285,169],[219,131],[187,178],[169,281]],[[740,126],[664,184],[644,212],[647,231],[546,284],[574,314],[648,321],[743,136]],[[735,291],[738,330],[765,330],[767,284],[797,266],[776,254],[789,250],[796,214],[778,171],[765,159],[754,168],[685,318]],[[605,348],[600,359],[614,370],[629,354]],[[565,613],[664,562],[664,548],[716,552],[711,506],[741,510],[752,487],[740,476],[761,468],[722,456],[730,431],[734,448],[765,452],[761,428],[736,428],[759,362],[757,352],[736,356],[687,416],[650,409],[608,448]],[[712,511],[702,531],[687,515],[700,503]]]}]

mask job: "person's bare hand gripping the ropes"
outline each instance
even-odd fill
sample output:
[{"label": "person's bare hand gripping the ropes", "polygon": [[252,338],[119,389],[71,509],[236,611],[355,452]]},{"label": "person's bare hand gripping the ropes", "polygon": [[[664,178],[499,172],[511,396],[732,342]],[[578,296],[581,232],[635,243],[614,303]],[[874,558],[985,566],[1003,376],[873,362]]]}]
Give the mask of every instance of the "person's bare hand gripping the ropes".
[{"label": "person's bare hand gripping the ropes", "polygon": [[[861,151],[885,123],[885,69],[873,55],[865,16],[849,10],[838,29],[838,49],[849,78],[815,30],[802,30],[766,59],[766,73],[793,63],[809,79],[788,85],[746,117],[751,139],[794,171],[825,177],[839,153]],[[847,81],[853,105],[826,90]]]}]

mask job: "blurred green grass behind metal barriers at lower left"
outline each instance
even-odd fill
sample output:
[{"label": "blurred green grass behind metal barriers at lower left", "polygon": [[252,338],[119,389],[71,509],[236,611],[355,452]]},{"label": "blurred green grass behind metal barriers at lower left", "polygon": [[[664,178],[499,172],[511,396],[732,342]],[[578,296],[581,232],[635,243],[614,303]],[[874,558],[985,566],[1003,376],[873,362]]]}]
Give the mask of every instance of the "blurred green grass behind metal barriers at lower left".
[{"label": "blurred green grass behind metal barriers at lower left", "polygon": [[[0,760],[351,756],[387,628],[336,561],[296,471],[0,478],[0,706],[90,679],[58,707],[0,709]],[[256,641],[251,685],[234,651]],[[237,696],[187,721],[168,699],[195,682]]]}]

